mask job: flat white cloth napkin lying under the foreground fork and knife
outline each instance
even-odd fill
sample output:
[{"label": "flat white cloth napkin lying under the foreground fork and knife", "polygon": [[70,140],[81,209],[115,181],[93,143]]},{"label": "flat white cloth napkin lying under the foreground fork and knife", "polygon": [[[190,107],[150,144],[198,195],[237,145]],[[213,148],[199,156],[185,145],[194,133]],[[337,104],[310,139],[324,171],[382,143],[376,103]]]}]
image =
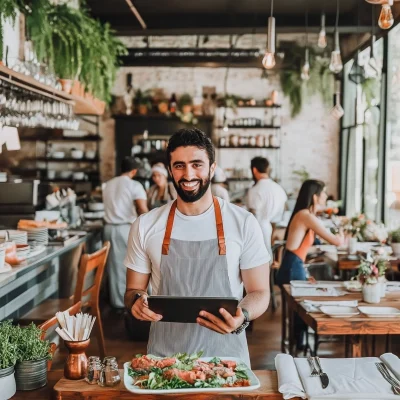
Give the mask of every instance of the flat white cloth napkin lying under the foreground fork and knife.
[{"label": "flat white cloth napkin lying under the foreground fork and knife", "polygon": [[399,399],[391,385],[378,371],[377,357],[365,358],[324,358],[320,359],[322,369],[329,377],[329,386],[322,389],[319,377],[310,375],[311,369],[305,358],[294,360],[307,398],[320,399]]}]

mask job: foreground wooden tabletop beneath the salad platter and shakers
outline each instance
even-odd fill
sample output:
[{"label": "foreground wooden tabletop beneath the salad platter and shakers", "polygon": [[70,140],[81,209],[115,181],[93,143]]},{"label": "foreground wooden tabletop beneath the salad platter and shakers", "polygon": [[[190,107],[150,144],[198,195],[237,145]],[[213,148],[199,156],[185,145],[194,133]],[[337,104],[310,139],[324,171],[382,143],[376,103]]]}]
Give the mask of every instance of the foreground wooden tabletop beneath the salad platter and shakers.
[{"label": "foreground wooden tabletop beneath the salad platter and shakers", "polygon": [[[101,387],[89,385],[84,380],[72,381],[63,377],[62,370],[50,371],[48,373],[48,384],[44,388],[33,391],[17,391],[12,400],[31,400],[31,399],[57,399],[57,400],[106,400],[106,399],[142,399],[142,400],[282,400],[282,394],[278,392],[278,381],[276,371],[254,371],[261,382],[259,389],[251,392],[214,392],[214,393],[174,393],[163,394],[135,394],[129,392],[124,385],[124,371],[120,370],[121,383],[116,387]],[[54,390],[52,388],[54,387]],[[297,398],[296,398],[297,399]]]}]

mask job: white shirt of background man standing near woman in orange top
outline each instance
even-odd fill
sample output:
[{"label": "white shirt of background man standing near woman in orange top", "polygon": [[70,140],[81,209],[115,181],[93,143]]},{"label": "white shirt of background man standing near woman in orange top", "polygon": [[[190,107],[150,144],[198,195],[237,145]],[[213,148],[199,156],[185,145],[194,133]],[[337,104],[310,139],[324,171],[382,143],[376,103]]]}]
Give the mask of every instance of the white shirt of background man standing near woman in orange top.
[{"label": "white shirt of background man standing near woman in orange top", "polygon": [[260,179],[247,194],[247,206],[255,210],[257,221],[280,222],[287,195],[272,179]]}]

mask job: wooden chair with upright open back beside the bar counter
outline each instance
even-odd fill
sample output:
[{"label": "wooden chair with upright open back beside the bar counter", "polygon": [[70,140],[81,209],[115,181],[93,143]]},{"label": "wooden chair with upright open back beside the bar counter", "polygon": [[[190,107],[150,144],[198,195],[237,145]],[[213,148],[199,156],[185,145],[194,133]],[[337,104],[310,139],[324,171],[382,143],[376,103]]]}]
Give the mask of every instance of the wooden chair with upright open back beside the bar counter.
[{"label": "wooden chair with upright open back beside the bar counter", "polygon": [[[99,294],[109,251],[110,242],[105,242],[103,248],[95,253],[83,254],[79,265],[78,280],[74,295],[69,299],[45,300],[27,314],[23,315],[19,322],[21,324],[34,322],[36,325],[39,325],[50,320],[57,311],[67,310],[72,305],[82,302],[82,308],[89,308],[91,314],[96,317],[96,323],[93,328],[99,345],[100,356],[104,358],[106,350],[99,308]],[[85,289],[85,279],[88,273],[94,270],[96,270],[94,284]]]}]

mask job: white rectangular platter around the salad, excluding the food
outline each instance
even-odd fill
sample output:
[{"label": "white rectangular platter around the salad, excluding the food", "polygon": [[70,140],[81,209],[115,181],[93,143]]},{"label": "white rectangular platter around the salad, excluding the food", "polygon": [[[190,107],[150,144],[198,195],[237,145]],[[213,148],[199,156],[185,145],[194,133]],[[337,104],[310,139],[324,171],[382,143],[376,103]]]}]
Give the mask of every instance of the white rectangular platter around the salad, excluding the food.
[{"label": "white rectangular platter around the salad, excluding the food", "polygon": [[[214,357],[201,357],[201,361],[210,361]],[[244,364],[239,358],[236,357],[221,357],[223,360],[236,361],[236,363]],[[132,393],[141,394],[170,394],[170,393],[206,393],[206,392],[249,392],[251,390],[258,389],[260,387],[260,381],[251,369],[247,369],[246,373],[250,380],[250,386],[243,387],[226,387],[226,388],[190,388],[190,389],[141,389],[135,386],[132,382],[133,379],[128,375],[128,368],[131,362],[127,361],[124,363],[124,383],[125,387]]]}]

